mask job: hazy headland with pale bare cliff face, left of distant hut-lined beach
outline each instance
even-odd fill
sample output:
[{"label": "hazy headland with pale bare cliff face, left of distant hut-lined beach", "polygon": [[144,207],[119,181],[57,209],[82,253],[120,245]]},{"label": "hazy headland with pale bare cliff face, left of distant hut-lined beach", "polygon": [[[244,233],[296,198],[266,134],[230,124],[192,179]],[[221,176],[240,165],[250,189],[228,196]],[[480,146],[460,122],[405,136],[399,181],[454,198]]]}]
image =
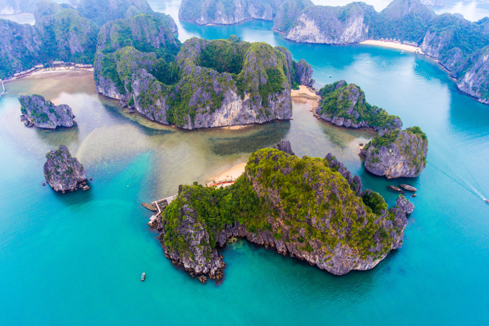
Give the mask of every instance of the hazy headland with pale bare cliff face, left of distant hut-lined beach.
[{"label": "hazy headland with pale bare cliff face, left of distant hut-lined beach", "polygon": [[360,2],[344,7],[308,6],[289,28],[288,40],[305,43],[350,44],[368,39],[367,12],[374,7]]}]

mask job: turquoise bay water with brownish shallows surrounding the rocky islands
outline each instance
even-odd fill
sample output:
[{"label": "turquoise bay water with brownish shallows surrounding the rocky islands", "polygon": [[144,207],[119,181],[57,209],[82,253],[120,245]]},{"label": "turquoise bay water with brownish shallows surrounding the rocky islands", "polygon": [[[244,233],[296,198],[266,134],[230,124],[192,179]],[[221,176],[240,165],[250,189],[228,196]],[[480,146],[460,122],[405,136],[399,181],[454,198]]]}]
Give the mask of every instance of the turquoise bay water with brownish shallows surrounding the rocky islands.
[{"label": "turquoise bay water with brownish shallows surrounding the rocky islands", "polygon": [[[389,182],[367,174],[357,153],[370,135],[322,123],[306,104],[294,104],[290,122],[189,132],[129,116],[96,94],[86,73],[8,83],[0,100],[0,325],[488,324],[489,206],[467,182],[489,189],[489,107],[458,93],[421,56],[289,43],[270,27],[179,26],[182,39],[233,33],[287,46],[313,65],[318,87],[338,79],[358,84],[370,103],[426,132],[420,177]],[[24,128],[16,99],[24,93],[67,103],[78,127]],[[140,202],[204,182],[282,138],[298,155],[333,152],[389,204],[396,195],[388,184],[420,189],[402,248],[372,270],[341,277],[245,241],[223,249],[221,286],[175,269],[148,231],[151,213]],[[59,195],[41,185],[44,153],[59,144],[93,177],[88,192]]]}]

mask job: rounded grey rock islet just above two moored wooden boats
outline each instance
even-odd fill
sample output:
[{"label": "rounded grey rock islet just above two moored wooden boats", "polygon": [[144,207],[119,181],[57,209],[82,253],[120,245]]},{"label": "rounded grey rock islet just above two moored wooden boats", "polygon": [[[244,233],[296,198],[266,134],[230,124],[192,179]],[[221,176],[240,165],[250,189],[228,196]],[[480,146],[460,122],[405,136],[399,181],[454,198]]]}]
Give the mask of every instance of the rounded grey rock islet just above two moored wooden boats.
[{"label": "rounded grey rock islet just above two moored wooden boats", "polygon": [[417,177],[426,166],[428,139],[419,127],[380,133],[362,150],[365,168],[388,179]]}]

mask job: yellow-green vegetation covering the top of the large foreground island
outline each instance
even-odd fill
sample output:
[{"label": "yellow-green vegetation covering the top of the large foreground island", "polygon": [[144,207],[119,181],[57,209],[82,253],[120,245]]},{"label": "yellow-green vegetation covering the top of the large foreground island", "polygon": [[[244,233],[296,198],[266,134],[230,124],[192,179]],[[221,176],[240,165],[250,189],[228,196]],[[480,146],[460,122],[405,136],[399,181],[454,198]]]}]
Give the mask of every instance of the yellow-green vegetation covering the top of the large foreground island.
[{"label": "yellow-green vegetation covering the top of the large foreground island", "polygon": [[197,213],[198,224],[208,232],[210,251],[219,232],[233,223],[244,224],[250,233],[270,232],[306,252],[319,246],[331,255],[339,244],[368,259],[392,247],[392,227],[379,222],[382,216],[392,218],[386,215],[383,198],[373,192],[363,199],[356,196],[346,179],[321,158],[259,150],[231,187],[182,186],[163,213],[163,242],[171,251],[188,249],[177,231],[185,205]]}]

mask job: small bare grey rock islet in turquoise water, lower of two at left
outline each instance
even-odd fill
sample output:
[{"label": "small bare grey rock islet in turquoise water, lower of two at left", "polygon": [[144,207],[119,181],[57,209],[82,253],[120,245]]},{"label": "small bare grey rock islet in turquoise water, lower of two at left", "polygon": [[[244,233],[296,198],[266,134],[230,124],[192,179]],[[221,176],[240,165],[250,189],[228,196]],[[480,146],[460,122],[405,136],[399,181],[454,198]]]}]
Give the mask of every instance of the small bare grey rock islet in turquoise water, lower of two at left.
[{"label": "small bare grey rock islet in turquoise water, lower of two at left", "polygon": [[65,194],[77,189],[89,189],[85,168],[76,157],[71,157],[65,145],[46,153],[46,158],[44,177],[55,191]]}]

